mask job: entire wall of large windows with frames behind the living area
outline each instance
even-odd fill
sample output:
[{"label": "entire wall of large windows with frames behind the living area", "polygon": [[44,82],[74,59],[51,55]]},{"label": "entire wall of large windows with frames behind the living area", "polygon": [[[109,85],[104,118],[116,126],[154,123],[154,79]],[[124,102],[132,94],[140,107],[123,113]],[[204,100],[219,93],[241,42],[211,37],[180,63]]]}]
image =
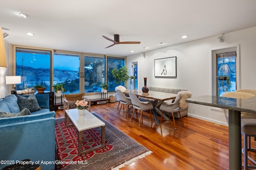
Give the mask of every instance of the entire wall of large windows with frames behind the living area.
[{"label": "entire wall of large windows with frames behind the living area", "polygon": [[[11,45],[10,75],[21,76],[17,90],[36,84],[53,90],[52,85],[65,83],[66,94],[101,92],[101,82],[108,82],[108,91],[114,91],[111,71],[125,65],[125,57],[107,57],[71,51],[59,51],[40,47]],[[108,61],[108,68],[106,67]]]}]

